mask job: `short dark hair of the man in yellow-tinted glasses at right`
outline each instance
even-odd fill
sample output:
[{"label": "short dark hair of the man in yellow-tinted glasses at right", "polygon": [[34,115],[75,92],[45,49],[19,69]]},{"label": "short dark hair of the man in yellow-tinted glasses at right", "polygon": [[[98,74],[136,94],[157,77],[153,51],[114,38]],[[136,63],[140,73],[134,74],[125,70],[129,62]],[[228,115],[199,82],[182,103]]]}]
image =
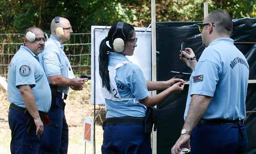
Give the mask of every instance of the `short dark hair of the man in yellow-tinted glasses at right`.
[{"label": "short dark hair of the man in yellow-tinted glasses at right", "polygon": [[207,22],[215,24],[218,33],[226,33],[229,36],[233,31],[231,16],[223,10],[215,10],[207,16]]}]

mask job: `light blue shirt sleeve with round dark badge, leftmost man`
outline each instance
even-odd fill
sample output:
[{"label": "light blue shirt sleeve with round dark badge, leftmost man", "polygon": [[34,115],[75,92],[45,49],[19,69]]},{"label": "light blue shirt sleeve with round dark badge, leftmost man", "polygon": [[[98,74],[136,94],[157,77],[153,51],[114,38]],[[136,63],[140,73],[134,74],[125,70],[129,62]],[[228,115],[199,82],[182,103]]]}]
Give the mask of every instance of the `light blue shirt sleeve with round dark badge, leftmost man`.
[{"label": "light blue shirt sleeve with round dark badge, leftmost man", "polygon": [[17,63],[15,67],[15,86],[20,88],[21,85],[30,85],[30,87],[33,88],[36,85],[34,69],[34,66],[29,61],[21,61]]}]

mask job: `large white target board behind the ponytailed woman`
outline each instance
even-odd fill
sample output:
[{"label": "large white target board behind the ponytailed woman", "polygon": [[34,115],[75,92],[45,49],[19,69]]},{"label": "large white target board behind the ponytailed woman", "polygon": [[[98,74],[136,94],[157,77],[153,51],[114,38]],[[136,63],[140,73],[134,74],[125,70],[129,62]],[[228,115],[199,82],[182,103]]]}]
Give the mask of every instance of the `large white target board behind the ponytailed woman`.
[{"label": "large white target board behind the ponytailed woman", "polygon": [[[109,29],[110,26],[91,27],[91,104],[105,104],[101,93],[98,59],[101,41],[108,35]],[[135,32],[138,46],[134,49],[134,55],[127,58],[142,69],[146,80],[151,81],[151,28],[135,27]]]}]

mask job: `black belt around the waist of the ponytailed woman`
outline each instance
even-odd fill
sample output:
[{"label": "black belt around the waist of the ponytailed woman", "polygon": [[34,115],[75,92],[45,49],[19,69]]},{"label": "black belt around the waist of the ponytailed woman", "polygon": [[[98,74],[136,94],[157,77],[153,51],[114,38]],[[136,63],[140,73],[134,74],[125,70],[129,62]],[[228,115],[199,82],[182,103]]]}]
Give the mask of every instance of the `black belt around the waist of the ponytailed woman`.
[{"label": "black belt around the waist of the ponytailed woman", "polygon": [[116,117],[106,119],[106,125],[115,124],[144,125],[144,117]]}]

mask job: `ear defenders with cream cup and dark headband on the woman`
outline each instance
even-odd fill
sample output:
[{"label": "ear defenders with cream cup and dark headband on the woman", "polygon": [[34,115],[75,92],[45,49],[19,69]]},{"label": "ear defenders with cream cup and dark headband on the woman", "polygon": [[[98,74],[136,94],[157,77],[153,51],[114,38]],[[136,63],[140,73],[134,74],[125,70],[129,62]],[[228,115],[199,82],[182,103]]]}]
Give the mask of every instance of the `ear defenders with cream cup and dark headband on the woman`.
[{"label": "ear defenders with cream cup and dark headband on the woman", "polygon": [[116,53],[122,53],[125,49],[126,36],[123,33],[124,22],[117,23],[116,32],[112,36],[113,50]]}]

